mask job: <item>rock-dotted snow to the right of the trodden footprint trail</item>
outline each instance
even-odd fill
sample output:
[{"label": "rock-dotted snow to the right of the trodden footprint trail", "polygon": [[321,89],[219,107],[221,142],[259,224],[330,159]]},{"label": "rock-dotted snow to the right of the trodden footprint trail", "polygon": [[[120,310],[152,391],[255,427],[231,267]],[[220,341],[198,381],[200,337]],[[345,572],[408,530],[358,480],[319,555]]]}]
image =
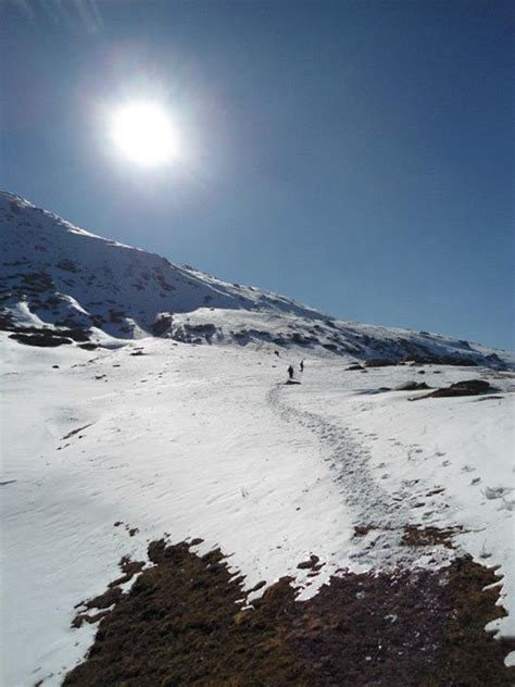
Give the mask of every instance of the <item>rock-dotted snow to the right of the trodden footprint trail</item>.
[{"label": "rock-dotted snow to the right of the trodden footprint trail", "polygon": [[[289,404],[300,412],[315,409],[331,426],[344,428],[366,452],[367,467],[387,495],[387,512],[397,504],[412,524],[463,527],[455,537],[461,549],[503,575],[500,602],[510,614],[488,628],[515,636],[514,376],[440,365],[424,366],[424,376],[410,366],[366,374],[344,367],[313,361]],[[486,378],[499,392],[428,399],[422,398],[427,391],[377,392],[410,380],[438,387],[470,378]],[[385,523],[385,504],[378,505],[367,516]],[[380,550],[374,555],[380,564]]]}]

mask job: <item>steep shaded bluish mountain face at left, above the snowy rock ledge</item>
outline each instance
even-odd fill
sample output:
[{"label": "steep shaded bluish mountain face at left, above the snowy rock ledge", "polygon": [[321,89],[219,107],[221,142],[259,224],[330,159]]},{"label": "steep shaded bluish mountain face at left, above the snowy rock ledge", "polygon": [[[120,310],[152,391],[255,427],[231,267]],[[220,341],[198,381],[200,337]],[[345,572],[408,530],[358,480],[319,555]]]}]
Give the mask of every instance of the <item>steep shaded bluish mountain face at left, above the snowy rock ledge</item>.
[{"label": "steep shaded bluish mountain face at left, above the snowy rock ledge", "polygon": [[0,193],[4,308],[59,326],[96,326],[133,338],[160,312],[202,307],[318,316],[274,293],[231,285],[166,259],[110,241]]}]

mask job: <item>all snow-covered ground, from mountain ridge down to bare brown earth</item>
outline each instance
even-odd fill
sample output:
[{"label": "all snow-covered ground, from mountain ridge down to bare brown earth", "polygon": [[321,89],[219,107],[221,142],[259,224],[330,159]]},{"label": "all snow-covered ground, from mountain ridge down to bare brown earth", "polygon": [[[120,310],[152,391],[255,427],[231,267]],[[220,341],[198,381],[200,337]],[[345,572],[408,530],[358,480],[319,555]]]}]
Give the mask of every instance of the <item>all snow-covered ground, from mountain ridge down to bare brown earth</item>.
[{"label": "all snow-covered ground, from mountain ridge down to bare brown earth", "polygon": [[[74,607],[163,536],[303,598],[342,569],[470,554],[499,571],[508,615],[490,629],[515,636],[508,354],[338,322],[9,193],[0,223],[2,687],[62,684],[97,628],[72,628]],[[470,378],[491,386],[429,397]]]}]

